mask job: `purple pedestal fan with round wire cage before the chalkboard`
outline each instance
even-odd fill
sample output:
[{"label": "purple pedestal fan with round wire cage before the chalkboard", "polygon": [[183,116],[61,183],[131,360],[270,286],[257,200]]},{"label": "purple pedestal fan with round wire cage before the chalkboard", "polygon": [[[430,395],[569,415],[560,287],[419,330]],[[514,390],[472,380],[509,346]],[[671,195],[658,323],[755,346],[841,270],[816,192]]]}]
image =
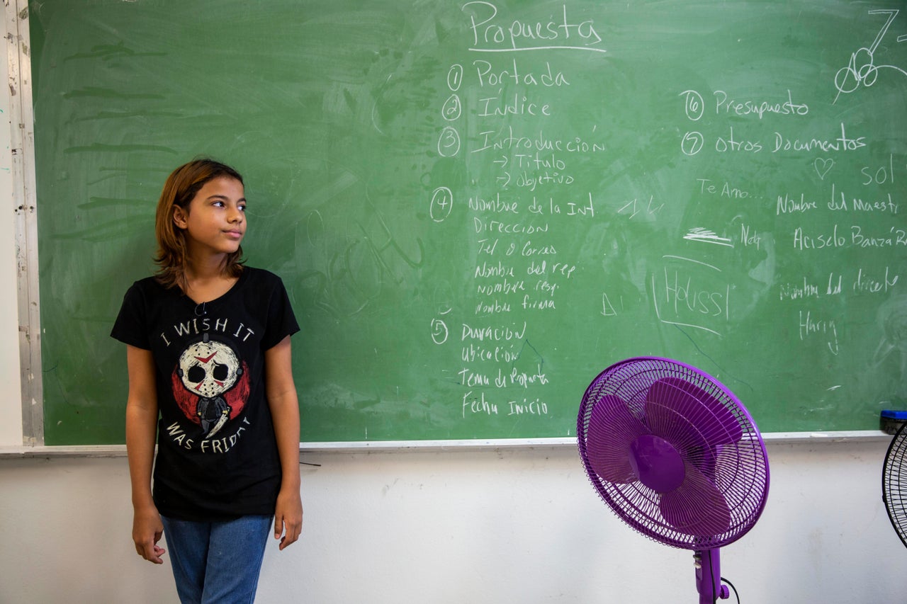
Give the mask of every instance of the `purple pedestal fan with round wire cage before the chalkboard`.
[{"label": "purple pedestal fan with round wire cage before the chalkboard", "polygon": [[718,549],[756,524],[768,494],[766,447],[736,396],[678,361],[630,358],[592,381],[577,437],[611,510],[656,541],[696,552],[700,604],[727,598]]}]

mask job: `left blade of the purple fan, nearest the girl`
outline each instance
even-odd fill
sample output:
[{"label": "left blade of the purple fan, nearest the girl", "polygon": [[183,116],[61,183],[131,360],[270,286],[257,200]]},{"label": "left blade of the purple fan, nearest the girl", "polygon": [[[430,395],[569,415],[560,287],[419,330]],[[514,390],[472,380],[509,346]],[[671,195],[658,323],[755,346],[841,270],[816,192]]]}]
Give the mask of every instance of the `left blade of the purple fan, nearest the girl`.
[{"label": "left blade of the purple fan, nearest the girl", "polygon": [[619,484],[637,480],[629,463],[629,445],[649,430],[629,412],[623,399],[602,396],[592,407],[586,434],[586,451],[595,473]]}]

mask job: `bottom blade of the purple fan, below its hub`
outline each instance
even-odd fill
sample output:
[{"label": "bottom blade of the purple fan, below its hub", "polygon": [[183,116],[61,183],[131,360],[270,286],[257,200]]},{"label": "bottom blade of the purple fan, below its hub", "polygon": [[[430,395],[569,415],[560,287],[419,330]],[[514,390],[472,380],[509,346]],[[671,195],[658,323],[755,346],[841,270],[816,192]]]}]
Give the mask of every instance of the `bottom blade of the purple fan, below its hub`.
[{"label": "bottom blade of the purple fan, below its hub", "polygon": [[672,527],[696,537],[715,537],[731,525],[731,511],[724,494],[692,463],[677,490],[665,493],[658,509]]}]

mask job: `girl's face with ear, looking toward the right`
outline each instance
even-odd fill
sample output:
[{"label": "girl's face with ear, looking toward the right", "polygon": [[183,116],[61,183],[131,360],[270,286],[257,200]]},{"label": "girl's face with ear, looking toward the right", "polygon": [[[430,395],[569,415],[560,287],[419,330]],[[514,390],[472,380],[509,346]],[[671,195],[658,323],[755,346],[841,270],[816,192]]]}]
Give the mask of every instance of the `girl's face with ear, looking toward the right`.
[{"label": "girl's face with ear, looking toward the right", "polygon": [[190,201],[173,209],[173,222],[186,233],[190,256],[231,254],[246,234],[246,197],[239,180],[209,180]]}]

